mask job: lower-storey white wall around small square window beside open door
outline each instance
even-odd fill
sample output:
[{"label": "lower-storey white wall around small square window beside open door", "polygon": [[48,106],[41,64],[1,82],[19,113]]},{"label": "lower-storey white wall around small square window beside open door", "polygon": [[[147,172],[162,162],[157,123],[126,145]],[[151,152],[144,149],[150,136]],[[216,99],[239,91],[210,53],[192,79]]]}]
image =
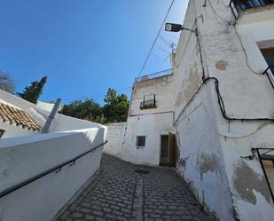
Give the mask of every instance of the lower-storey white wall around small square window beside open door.
[{"label": "lower-storey white wall around small square window beside open door", "polygon": [[[160,163],[160,135],[171,130],[173,113],[130,116],[122,158],[138,164]],[[145,136],[145,147],[137,148],[136,137]]]}]

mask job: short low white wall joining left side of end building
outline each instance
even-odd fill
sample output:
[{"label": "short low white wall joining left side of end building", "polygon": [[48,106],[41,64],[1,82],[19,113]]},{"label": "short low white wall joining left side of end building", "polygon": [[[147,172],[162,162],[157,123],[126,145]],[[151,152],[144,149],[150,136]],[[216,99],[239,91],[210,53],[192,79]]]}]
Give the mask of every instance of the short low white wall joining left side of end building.
[{"label": "short low white wall joining left side of end building", "polygon": [[119,158],[122,157],[122,147],[125,138],[126,126],[127,122],[114,122],[106,124],[106,140],[108,142],[104,147],[104,153],[111,154]]}]

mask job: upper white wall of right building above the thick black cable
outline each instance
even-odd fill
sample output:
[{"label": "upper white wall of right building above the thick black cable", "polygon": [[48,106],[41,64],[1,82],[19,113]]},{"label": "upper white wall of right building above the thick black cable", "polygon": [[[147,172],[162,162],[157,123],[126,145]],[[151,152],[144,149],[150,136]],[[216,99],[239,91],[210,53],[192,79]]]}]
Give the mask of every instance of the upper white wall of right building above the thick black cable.
[{"label": "upper white wall of right building above the thick black cable", "polygon": [[[274,39],[274,17],[251,20],[234,28],[226,22],[234,22],[231,9],[226,6],[230,1],[210,0],[224,21],[210,4],[203,7],[199,1],[195,2],[205,69],[208,76],[219,80],[227,114],[238,118],[272,117],[274,91],[266,75],[254,72],[262,73],[267,67],[256,42]],[[241,42],[247,51],[247,60]]]}]

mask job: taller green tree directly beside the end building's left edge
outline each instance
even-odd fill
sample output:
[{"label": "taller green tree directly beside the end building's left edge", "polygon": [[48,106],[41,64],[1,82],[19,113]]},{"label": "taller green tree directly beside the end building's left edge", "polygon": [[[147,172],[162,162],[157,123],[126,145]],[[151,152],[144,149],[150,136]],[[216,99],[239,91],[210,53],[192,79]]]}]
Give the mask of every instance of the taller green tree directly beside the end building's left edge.
[{"label": "taller green tree directly beside the end building's left edge", "polygon": [[109,88],[104,99],[105,107],[103,113],[107,122],[125,122],[129,112],[129,100],[127,95],[120,94]]}]

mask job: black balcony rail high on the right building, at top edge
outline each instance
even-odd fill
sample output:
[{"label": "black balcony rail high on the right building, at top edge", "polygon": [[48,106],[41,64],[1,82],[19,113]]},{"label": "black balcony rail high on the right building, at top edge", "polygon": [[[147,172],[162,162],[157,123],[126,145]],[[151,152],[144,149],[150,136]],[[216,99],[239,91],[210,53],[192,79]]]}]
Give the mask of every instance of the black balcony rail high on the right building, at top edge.
[{"label": "black balcony rail high on the right building, at top edge", "polygon": [[[248,4],[245,4],[245,8],[244,9],[241,9],[241,8],[238,8],[237,6],[235,6],[235,4],[237,3],[242,3],[242,4],[245,4],[245,3],[248,3]],[[233,4],[233,6],[232,6]],[[239,15],[239,12],[243,11],[243,10],[246,10],[246,9],[250,9],[250,8],[257,8],[257,7],[262,7],[264,5],[269,5],[269,4],[274,4],[274,0],[268,0],[268,1],[247,1],[247,0],[231,0],[229,6],[231,7],[231,11],[235,17],[235,19],[237,19],[238,15]],[[239,4],[240,5],[240,4]],[[236,15],[236,13],[234,12],[234,9],[236,9],[238,15]]]}]

